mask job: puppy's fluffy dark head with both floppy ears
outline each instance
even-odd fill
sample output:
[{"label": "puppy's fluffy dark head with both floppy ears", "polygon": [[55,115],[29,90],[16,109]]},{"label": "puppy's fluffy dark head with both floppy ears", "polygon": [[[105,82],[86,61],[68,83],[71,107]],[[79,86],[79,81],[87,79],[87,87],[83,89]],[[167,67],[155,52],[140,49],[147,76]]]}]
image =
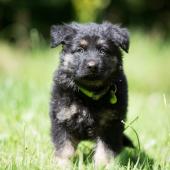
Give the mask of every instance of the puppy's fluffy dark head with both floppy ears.
[{"label": "puppy's fluffy dark head with both floppy ears", "polygon": [[63,45],[60,68],[75,83],[100,87],[122,69],[121,49],[128,52],[128,31],[110,23],[52,26],[51,46]]}]

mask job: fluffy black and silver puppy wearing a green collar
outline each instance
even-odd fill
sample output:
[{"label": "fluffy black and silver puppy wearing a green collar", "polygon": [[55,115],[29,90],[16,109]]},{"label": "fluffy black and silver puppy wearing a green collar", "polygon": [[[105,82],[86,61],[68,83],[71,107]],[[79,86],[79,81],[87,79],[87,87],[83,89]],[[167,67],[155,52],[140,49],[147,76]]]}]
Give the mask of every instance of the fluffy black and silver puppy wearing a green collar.
[{"label": "fluffy black and silver puppy wearing a green collar", "polygon": [[121,50],[128,52],[125,28],[105,22],[52,26],[51,45],[62,44],[51,98],[52,140],[67,161],[82,140],[96,141],[95,165],[107,164],[123,146],[128,90]]}]

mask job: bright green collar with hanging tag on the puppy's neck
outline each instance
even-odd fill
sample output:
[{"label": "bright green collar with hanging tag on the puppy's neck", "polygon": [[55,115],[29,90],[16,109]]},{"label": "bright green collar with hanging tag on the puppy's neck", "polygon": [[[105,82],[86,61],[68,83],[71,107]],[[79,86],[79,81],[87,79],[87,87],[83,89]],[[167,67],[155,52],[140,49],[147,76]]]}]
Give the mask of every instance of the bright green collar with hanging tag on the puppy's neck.
[{"label": "bright green collar with hanging tag on the puppy's neck", "polygon": [[[110,87],[106,88],[105,90],[101,91],[100,93],[96,93],[94,91],[90,91],[90,90],[87,90],[81,86],[79,86],[79,90],[87,97],[89,98],[92,98],[93,100],[99,100],[101,99],[108,91],[109,91]],[[116,86],[115,86],[115,89],[114,90],[110,90],[110,103],[111,104],[115,104],[117,103],[117,97],[115,95],[116,93]]]}]

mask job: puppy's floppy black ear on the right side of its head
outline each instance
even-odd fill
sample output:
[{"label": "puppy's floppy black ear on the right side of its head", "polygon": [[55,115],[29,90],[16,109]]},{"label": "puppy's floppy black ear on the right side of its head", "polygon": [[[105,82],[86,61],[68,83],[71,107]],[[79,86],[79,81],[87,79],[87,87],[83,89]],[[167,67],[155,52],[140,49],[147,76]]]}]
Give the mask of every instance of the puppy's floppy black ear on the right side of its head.
[{"label": "puppy's floppy black ear on the right side of its head", "polygon": [[110,27],[111,39],[116,46],[122,48],[125,52],[129,51],[129,32],[126,28],[121,28],[117,25]]}]

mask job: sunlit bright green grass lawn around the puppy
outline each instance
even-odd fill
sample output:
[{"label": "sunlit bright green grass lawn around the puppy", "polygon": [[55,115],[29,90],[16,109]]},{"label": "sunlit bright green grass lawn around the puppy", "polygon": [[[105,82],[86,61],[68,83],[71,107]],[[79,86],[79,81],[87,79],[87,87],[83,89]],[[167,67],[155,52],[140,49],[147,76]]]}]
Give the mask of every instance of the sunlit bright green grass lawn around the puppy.
[{"label": "sunlit bright green grass lawn around the puppy", "polygon": [[[170,42],[133,32],[124,56],[129,80],[125,133],[141,149],[125,149],[110,169],[170,169]],[[48,116],[58,49],[24,51],[0,43],[0,170],[56,169]],[[135,130],[135,132],[134,132]],[[81,143],[74,169],[93,169],[92,144]],[[90,156],[89,156],[90,155]]]}]

